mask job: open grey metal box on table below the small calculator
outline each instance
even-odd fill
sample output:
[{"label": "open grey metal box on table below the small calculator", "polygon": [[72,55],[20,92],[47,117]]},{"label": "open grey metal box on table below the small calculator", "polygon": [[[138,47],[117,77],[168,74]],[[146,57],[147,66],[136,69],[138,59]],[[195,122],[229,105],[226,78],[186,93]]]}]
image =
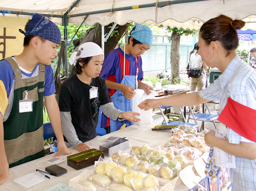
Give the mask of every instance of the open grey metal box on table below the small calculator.
[{"label": "open grey metal box on table below the small calculator", "polygon": [[111,152],[117,152],[118,150],[125,151],[126,149],[129,149],[129,140],[123,138],[100,145],[100,151],[104,152],[104,155],[107,157],[110,156]]}]

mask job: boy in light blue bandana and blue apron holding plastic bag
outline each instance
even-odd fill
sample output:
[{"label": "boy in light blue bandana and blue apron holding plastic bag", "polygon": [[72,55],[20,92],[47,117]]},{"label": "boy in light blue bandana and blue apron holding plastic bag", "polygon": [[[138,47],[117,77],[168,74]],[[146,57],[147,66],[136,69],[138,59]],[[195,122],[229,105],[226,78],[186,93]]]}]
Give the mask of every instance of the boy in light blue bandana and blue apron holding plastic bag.
[{"label": "boy in light blue bandana and blue apron holding plastic bag", "polygon": [[[100,76],[106,81],[115,108],[122,111],[131,111],[131,99],[135,94],[134,90],[137,83],[138,88],[143,89],[147,94],[150,94],[150,90],[153,90],[152,87],[141,82],[143,71],[140,56],[150,49],[152,42],[151,29],[147,25],[136,23],[131,30],[128,43],[106,55]],[[101,127],[106,128],[107,133],[109,133],[109,126],[110,131],[114,132],[123,124],[129,126],[132,122],[112,120],[104,114],[102,115]]]}]

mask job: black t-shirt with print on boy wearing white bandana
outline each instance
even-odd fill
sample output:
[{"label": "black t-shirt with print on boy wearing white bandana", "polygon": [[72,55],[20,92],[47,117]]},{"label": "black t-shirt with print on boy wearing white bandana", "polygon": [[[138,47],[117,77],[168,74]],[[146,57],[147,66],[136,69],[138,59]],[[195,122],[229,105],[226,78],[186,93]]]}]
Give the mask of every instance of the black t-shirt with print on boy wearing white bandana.
[{"label": "black t-shirt with print on boy wearing white bandana", "polygon": [[[98,87],[98,97],[89,99],[91,86]],[[81,82],[74,74],[65,80],[59,93],[60,111],[71,111],[72,124],[80,141],[85,142],[97,136],[100,105],[112,102],[105,80],[92,79],[90,86]]]}]

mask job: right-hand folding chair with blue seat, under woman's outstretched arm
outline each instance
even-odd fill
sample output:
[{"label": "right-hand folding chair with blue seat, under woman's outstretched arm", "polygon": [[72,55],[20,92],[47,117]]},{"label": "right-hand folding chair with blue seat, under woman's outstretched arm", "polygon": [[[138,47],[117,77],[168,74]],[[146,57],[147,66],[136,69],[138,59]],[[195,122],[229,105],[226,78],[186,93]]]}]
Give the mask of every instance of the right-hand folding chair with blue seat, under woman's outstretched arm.
[{"label": "right-hand folding chair with blue seat, under woman's outstretched arm", "polygon": [[[206,113],[204,112],[204,113],[202,113],[202,114],[200,113],[200,114],[196,114],[196,115],[192,115],[192,116],[190,116],[190,113],[189,113],[189,115],[188,115],[188,120],[189,120],[189,119],[194,119],[194,120],[202,121],[200,131],[202,131],[202,128],[203,128],[203,125],[204,125],[204,122],[205,122],[205,121],[212,121],[213,124],[214,124],[214,126],[215,126],[215,128],[217,128],[217,127],[216,127],[216,124],[215,124],[215,122],[214,122],[214,120],[218,119],[218,117],[219,117],[218,115],[212,115],[212,114],[211,114],[211,111],[210,111],[210,109],[209,109],[209,107],[208,107],[208,104],[207,104],[207,103],[204,103],[204,104],[206,105],[209,114],[206,114]],[[191,108],[191,107],[190,107],[190,108]],[[192,112],[192,114],[193,114],[193,112]]]}]

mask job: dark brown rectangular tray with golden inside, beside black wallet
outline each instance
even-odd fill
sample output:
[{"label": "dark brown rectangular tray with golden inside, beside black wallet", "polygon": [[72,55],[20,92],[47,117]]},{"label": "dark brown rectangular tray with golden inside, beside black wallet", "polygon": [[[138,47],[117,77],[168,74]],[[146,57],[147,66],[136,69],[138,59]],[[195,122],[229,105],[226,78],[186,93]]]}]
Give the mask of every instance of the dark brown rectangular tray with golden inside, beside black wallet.
[{"label": "dark brown rectangular tray with golden inside, beside black wallet", "polygon": [[94,161],[97,161],[100,157],[104,158],[104,152],[97,149],[90,149],[81,153],[70,155],[67,157],[68,166],[80,170],[85,167],[94,165]]}]

